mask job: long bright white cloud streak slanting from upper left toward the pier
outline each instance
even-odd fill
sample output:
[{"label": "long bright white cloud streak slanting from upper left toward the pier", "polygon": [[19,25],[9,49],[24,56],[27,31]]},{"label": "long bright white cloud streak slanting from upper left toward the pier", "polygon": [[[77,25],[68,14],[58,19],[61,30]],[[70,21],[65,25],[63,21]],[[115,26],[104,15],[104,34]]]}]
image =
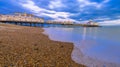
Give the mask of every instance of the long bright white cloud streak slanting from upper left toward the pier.
[{"label": "long bright white cloud streak slanting from upper left toward the pier", "polygon": [[53,19],[68,19],[71,15],[69,12],[57,12],[53,10],[47,10],[44,8],[41,8],[37,6],[32,0],[26,0],[25,2],[20,2],[20,5],[22,5],[24,8],[29,9],[33,13],[39,15],[39,16],[49,16]]}]

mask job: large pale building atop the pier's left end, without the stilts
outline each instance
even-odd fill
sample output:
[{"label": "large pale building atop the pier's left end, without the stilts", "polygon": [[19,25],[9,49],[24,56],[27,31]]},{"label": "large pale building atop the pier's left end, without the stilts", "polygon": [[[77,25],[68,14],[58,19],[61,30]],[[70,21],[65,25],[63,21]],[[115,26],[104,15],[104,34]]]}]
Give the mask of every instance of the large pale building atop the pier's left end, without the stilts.
[{"label": "large pale building atop the pier's left end, without the stilts", "polygon": [[44,23],[43,18],[35,17],[32,14],[15,13],[13,15],[0,15],[1,21],[16,21],[16,22],[40,22]]}]

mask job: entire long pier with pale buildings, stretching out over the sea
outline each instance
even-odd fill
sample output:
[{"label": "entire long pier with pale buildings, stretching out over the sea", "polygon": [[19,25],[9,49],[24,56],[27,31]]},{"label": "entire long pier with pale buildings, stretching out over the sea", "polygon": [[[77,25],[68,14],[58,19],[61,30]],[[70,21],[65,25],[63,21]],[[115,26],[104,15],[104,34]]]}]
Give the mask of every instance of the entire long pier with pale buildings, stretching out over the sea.
[{"label": "entire long pier with pale buildings, stretching out over the sea", "polygon": [[75,24],[73,21],[54,21],[48,20],[45,21],[43,18],[36,17],[32,14],[26,13],[15,13],[13,15],[0,15],[1,23],[10,23],[16,25],[25,25],[25,26],[86,26],[86,27],[97,27],[98,24],[89,22],[88,24]]}]

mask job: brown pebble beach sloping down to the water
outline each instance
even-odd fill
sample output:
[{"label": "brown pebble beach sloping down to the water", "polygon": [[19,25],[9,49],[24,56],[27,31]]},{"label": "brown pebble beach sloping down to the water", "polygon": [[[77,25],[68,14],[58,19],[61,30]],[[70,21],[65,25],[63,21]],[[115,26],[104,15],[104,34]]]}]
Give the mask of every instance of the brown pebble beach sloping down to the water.
[{"label": "brown pebble beach sloping down to the water", "polygon": [[71,59],[72,43],[52,41],[43,31],[0,24],[0,67],[85,67]]}]

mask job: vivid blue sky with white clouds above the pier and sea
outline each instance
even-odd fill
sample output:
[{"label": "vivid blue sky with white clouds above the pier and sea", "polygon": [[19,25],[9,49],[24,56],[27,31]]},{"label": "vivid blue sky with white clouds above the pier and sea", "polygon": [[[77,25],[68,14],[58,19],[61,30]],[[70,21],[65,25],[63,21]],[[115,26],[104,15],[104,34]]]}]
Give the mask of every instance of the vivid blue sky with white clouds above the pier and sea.
[{"label": "vivid blue sky with white clouds above the pier and sea", "polygon": [[120,25],[120,0],[0,0],[0,14],[26,12],[45,20]]}]

